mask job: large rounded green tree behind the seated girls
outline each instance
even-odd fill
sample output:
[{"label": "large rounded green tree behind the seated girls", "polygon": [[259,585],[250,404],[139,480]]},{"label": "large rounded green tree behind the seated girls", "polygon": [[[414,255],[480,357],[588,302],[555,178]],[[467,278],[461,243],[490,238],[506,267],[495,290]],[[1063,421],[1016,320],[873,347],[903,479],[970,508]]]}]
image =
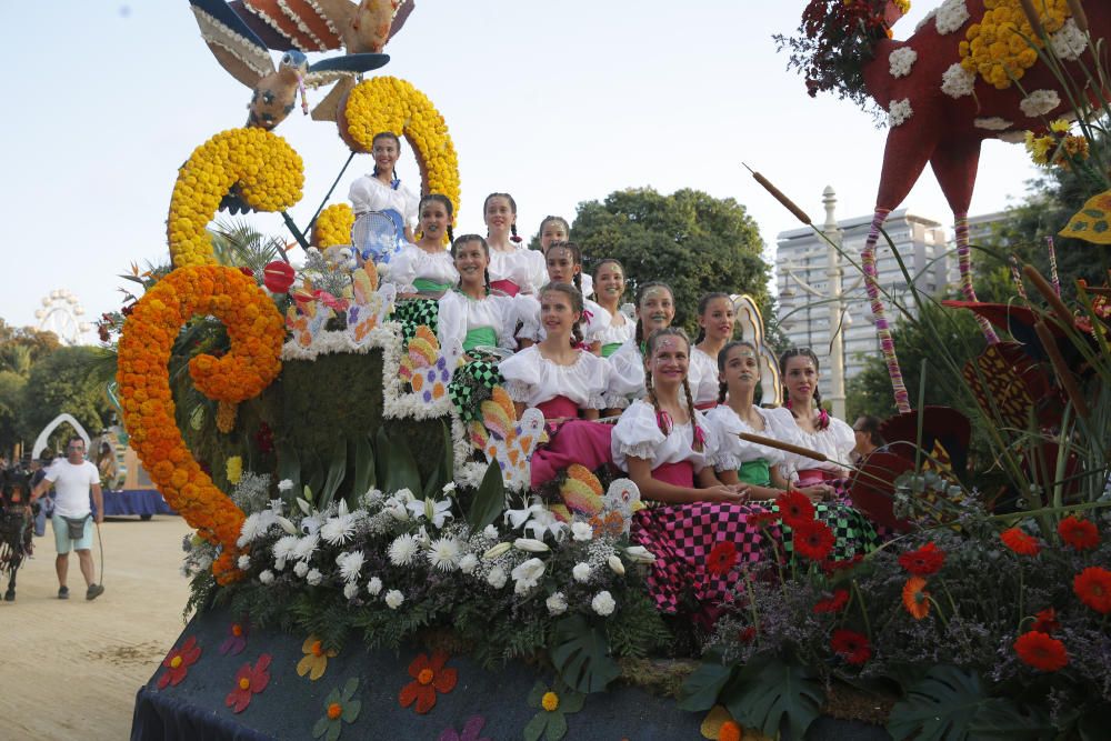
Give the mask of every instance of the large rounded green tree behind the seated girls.
[{"label": "large rounded green tree behind the seated girls", "polygon": [[744,207],[683,189],[662,196],[651,188],[610,193],[604,201],[579,204],[571,238],[582,248],[584,269],[602,258],[621,261],[632,301],[637,287],[662,280],[675,294],[677,326],[697,329],[695,309],[703,293],[749,293],[764,316],[770,266],[763,242]]}]

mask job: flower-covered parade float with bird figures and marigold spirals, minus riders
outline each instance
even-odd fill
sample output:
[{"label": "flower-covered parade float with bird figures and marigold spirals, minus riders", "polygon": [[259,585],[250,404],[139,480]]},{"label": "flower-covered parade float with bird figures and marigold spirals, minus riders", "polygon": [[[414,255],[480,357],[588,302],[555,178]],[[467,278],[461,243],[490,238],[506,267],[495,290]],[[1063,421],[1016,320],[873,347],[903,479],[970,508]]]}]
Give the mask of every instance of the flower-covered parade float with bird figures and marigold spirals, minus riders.
[{"label": "flower-covered parade float with bird figures and marigold spirals, minus riders", "polygon": [[[434,328],[398,322],[393,289],[372,262],[351,261],[350,207],[321,203],[304,229],[287,217],[307,250],[299,266],[273,246],[216,258],[209,224],[221,208],[284,213],[302,198],[304,162],[273,129],[306,86],[336,86],[313,117],[334,121],[353,153],[380,131],[401,136],[422,190],[458,209],[444,119],[404,80],[363,77],[386,63],[412,2],[191,4],[252,96],[248,126],[217,133],[179,170],[172,264],[144,276],[120,317],[130,444],[196,530],[183,543],[194,614],[139,691],[132,738],[1105,737],[1105,288],[1057,291],[1031,270],[1029,299],[969,293],[953,308],[994,326],[963,368],[937,333],[935,372],[975,394],[971,421],[912,409],[883,336],[901,413],[885,428],[891,450],[853,471],[851,491],[899,534],[834,554],[804,498],[784,494],[761,523],[754,564],[730,542],[705,554],[729,587],[723,602],[660,612],[645,585],[657,557],[630,539],[637,488],[572,465],[530,489],[542,417],[518,417],[497,385],[449,394],[458,350]],[[848,80],[849,97],[863,96],[879,89],[877,69],[917,86],[922,103],[919,92],[872,94],[900,141],[912,114],[934,111],[925,126],[945,136],[911,159],[934,158],[943,184],[942,166],[965,158],[970,193],[969,142],[1004,131],[965,126],[955,107],[987,104],[1008,81],[1025,90],[1041,64],[1060,72],[1060,110],[1021,107],[1008,132],[1049,129],[1070,84],[1087,91],[1068,98],[1095,114],[1087,120],[1105,111],[1091,108],[1097,88],[1078,83],[1105,79],[1093,53],[1111,23],[1102,7],[1084,18],[1071,1],[947,0],[910,41],[889,42],[903,6],[811,2],[798,49],[817,49],[814,90]],[[278,67],[271,49],[284,52]],[[303,54],[329,50],[342,53],[312,66]],[[907,147],[889,143],[884,182],[898,170],[905,188],[881,189],[868,250],[921,170],[900,170]],[[1108,188],[1105,166],[1099,174]],[[1067,231],[1111,242],[1109,209],[1111,194],[1093,193]],[[960,228],[958,242],[969,276]],[[882,287],[869,290],[882,333]],[[970,480],[972,423],[992,431],[1018,511],[993,512]]]}]

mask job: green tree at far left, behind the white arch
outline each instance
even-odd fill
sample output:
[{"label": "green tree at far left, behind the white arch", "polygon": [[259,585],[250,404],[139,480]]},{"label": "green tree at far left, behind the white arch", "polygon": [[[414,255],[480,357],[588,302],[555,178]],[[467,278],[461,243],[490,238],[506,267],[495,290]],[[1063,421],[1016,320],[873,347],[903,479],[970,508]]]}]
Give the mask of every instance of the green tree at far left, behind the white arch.
[{"label": "green tree at far left, behind the white arch", "polygon": [[[31,369],[23,393],[23,434],[33,439],[52,419],[69,412],[90,433],[110,419],[103,384],[91,372],[102,362],[97,348],[62,348]],[[69,431],[59,431],[58,438]]]}]

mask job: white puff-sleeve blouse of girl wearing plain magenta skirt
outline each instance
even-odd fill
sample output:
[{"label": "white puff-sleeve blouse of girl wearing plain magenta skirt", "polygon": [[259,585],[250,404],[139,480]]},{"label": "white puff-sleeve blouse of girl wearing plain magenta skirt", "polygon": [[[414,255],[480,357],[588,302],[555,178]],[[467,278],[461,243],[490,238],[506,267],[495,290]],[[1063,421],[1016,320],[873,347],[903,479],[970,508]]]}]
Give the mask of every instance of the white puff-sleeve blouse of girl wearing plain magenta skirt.
[{"label": "white puff-sleeve blouse of girl wearing plain magenta skirt", "polygon": [[602,392],[609,366],[601,358],[579,351],[571,366],[560,366],[543,357],[532,346],[501,361],[506,391],[513,401],[536,407],[556,397],[567,397],[579,409],[604,409]]}]

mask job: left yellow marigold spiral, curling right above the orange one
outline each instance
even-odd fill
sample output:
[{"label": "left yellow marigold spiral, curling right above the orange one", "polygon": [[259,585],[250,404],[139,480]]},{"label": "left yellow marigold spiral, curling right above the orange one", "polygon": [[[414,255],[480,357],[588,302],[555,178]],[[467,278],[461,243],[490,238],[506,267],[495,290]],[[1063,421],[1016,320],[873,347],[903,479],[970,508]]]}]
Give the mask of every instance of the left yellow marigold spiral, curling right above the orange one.
[{"label": "left yellow marigold spiral, curling right above the orange one", "polygon": [[213,264],[206,229],[229,191],[258,211],[282,211],[301,200],[304,168],[284,139],[263,129],[221,131],[178,170],[167,239],[174,267]]}]

